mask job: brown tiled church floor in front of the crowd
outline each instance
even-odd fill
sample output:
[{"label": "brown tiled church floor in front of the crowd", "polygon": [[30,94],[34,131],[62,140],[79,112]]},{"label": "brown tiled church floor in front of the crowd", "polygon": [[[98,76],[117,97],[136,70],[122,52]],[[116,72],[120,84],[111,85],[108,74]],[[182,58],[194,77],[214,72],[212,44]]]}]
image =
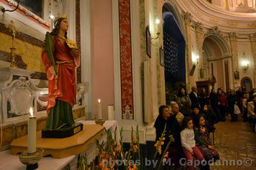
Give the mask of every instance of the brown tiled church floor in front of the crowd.
[{"label": "brown tiled church floor in front of the crowd", "polygon": [[249,123],[243,122],[239,115],[239,122],[230,122],[227,117],[226,122],[219,122],[215,127],[214,143],[220,153],[220,162],[211,169],[256,169],[256,133],[252,132]]}]

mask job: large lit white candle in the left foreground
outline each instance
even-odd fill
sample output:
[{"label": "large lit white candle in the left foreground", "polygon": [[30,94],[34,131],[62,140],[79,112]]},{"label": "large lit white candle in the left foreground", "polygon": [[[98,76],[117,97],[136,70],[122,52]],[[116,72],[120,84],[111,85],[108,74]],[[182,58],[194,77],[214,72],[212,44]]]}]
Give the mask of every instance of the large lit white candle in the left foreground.
[{"label": "large lit white candle in the left foreground", "polygon": [[33,115],[33,109],[30,108],[30,117],[28,120],[28,153],[36,152],[36,117]]}]

